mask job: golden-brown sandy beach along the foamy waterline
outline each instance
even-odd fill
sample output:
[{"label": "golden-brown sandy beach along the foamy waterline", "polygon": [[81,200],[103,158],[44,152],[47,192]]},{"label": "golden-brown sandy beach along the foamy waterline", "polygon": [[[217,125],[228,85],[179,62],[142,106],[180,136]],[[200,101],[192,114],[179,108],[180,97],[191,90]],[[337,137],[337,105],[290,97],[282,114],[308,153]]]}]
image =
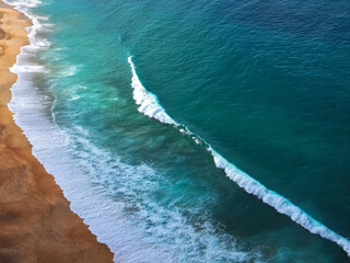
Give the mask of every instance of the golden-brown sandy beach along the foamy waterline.
[{"label": "golden-brown sandy beach along the foamy waterline", "polygon": [[70,210],[70,203],[15,125],[9,68],[28,44],[31,21],[0,0],[0,263],[113,262],[113,253]]}]

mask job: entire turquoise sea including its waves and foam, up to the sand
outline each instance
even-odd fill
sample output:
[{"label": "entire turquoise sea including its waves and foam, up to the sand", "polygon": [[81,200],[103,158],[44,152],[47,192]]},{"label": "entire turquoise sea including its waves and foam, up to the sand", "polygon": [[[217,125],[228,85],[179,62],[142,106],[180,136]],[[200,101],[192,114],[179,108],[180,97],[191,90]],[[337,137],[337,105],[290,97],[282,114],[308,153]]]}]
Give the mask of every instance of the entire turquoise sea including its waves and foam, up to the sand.
[{"label": "entire turquoise sea including its waves and foam, up to the sand", "polygon": [[16,122],[116,260],[348,262],[349,1],[22,3]]}]

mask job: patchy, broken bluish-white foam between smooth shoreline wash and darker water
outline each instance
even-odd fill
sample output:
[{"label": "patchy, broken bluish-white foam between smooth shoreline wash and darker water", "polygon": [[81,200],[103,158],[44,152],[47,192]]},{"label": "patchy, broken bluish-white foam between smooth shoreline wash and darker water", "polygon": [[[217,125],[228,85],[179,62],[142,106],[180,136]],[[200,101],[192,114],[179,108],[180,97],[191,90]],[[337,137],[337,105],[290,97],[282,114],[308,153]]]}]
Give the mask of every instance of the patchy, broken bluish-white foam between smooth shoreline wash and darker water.
[{"label": "patchy, broken bluish-white foam between smooth shoreline wash and darker water", "polygon": [[[82,127],[75,128],[79,130],[77,134],[89,136]],[[122,163],[118,157],[97,148],[90,140],[81,136],[70,137],[75,141],[73,155],[75,159],[84,162],[84,172],[93,175],[92,182],[102,185],[103,192],[107,191],[113,196],[127,198],[128,202],[121,211],[124,215],[119,216],[128,218],[126,214],[129,214],[129,220],[137,224],[142,233],[145,236],[150,233],[147,239],[151,247],[159,248],[160,258],[156,261],[150,261],[148,258],[147,262],[212,262],[213,259],[259,262],[258,259],[261,256],[259,250],[241,251],[233,237],[218,233],[202,213],[201,221],[205,222],[198,222],[200,221],[198,218],[197,225],[194,226],[187,221],[179,208],[168,209],[154,202],[150,193],[171,182],[149,165]],[[192,208],[191,214],[195,213]],[[198,228],[201,230],[198,231]],[[133,251],[130,247],[126,249],[127,253]]]}]

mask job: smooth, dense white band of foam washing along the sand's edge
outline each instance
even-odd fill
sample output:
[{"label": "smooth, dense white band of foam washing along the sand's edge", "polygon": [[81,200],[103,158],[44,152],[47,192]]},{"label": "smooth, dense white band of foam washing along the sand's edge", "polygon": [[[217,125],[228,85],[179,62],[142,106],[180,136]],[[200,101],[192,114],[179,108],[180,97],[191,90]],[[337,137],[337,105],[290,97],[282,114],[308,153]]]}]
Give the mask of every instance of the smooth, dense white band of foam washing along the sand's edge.
[{"label": "smooth, dense white band of foam washing along the sand's edge", "polygon": [[[100,242],[109,247],[116,262],[171,262],[168,254],[159,248],[150,247],[142,239],[142,235],[122,217],[125,203],[114,201],[98,188],[92,187],[91,174],[84,170],[89,170],[89,163],[82,168],[71,158],[67,148],[70,137],[47,116],[51,101],[42,94],[33,82],[33,73],[49,72],[45,66],[33,62],[36,53],[50,46],[47,39],[38,36],[38,33],[46,30],[46,25],[40,21],[47,19],[35,15],[32,10],[40,2],[7,2],[16,4],[16,9],[33,21],[33,26],[27,27],[30,45],[22,47],[16,64],[11,68],[11,71],[18,75],[18,81],[11,89],[12,100],[9,103],[9,107],[15,114],[15,123],[23,128],[33,145],[33,155],[46,171],[55,176],[65,196],[71,202],[71,209],[83,218]],[[42,48],[43,46],[45,48]],[[74,70],[75,68],[71,71]],[[72,72],[61,77],[71,75]],[[97,155],[101,158],[101,152]]]}]

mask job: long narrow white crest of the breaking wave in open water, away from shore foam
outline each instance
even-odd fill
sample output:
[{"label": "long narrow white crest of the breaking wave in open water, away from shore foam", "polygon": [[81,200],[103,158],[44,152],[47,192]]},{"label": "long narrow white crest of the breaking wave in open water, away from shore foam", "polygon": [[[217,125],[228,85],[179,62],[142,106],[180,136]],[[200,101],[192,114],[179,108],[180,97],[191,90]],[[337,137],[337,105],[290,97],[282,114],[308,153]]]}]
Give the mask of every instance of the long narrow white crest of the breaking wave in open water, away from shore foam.
[{"label": "long narrow white crest of the breaking wave in open water, away from shore foam", "polygon": [[[198,135],[191,133],[187,127],[179,126],[172,117],[170,117],[165,110],[159,104],[159,100],[154,94],[150,94],[147,89],[140,82],[135,65],[131,60],[131,56],[128,61],[132,69],[132,82],[133,88],[133,99],[137,104],[141,105],[139,111],[149,117],[153,117],[164,124],[174,125],[179,129],[180,133],[190,135],[196,144],[199,141],[205,141]],[[151,98],[151,99],[150,99]],[[150,105],[148,105],[150,103]],[[143,108],[151,108],[150,111],[143,111]],[[151,113],[150,113],[151,112]],[[155,112],[156,114],[152,114]],[[350,258],[350,241],[335,231],[330,230],[322,222],[314,219],[312,216],[307,215],[300,207],[295,206],[288,198],[279,195],[278,193],[267,188],[257,180],[253,179],[245,172],[237,169],[234,164],[224,159],[220,153],[218,153],[209,144],[205,142],[207,149],[211,152],[214,163],[218,168],[223,169],[226,175],[234,181],[240,187],[244,188],[247,193],[255,195],[261,199],[265,204],[273,207],[280,214],[290,217],[293,221],[307,229],[310,232],[319,235],[322,238],[330,240],[338,245],[340,245]]]}]

